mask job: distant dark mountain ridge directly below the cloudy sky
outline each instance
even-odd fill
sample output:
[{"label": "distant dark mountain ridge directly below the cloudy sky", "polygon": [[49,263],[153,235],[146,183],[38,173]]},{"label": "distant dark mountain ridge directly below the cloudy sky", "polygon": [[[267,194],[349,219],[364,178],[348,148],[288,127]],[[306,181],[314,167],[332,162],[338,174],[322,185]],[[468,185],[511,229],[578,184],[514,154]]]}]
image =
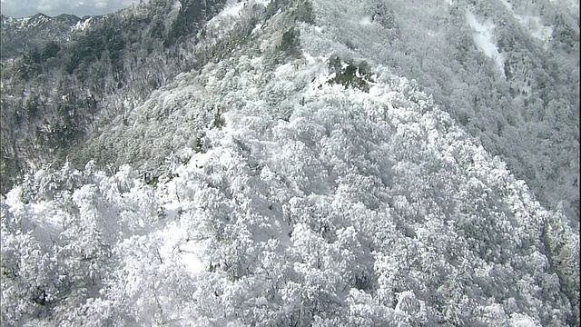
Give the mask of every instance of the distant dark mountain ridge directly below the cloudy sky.
[{"label": "distant dark mountain ridge directly below the cloudy sky", "polygon": [[49,41],[65,41],[72,33],[87,25],[102,21],[106,15],[62,14],[51,17],[38,13],[29,17],[0,16],[2,35],[1,58],[14,58],[34,48],[40,49]]}]

